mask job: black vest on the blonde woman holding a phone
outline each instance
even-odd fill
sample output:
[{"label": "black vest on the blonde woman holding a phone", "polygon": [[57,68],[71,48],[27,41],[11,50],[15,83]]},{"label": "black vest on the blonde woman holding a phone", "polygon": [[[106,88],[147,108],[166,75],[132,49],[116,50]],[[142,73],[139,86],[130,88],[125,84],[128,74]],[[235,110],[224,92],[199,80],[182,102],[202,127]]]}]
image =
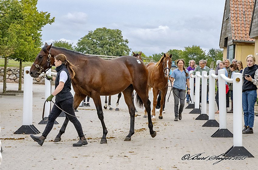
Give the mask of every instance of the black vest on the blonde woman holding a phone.
[{"label": "black vest on the blonde woman holding a phone", "polygon": [[245,74],[249,74],[252,78],[254,78],[255,71],[257,70],[256,65],[253,65],[251,67],[246,67],[243,72],[243,87],[242,92],[245,92],[247,90],[257,90],[256,85],[253,84],[253,82],[248,81],[245,79]]}]

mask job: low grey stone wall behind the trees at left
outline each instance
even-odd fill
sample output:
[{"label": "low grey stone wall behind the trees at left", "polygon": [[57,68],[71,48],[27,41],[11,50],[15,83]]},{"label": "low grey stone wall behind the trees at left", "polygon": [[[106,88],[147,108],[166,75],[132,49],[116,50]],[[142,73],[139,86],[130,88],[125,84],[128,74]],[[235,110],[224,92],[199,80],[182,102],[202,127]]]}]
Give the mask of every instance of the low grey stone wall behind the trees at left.
[{"label": "low grey stone wall behind the trees at left", "polygon": [[[23,83],[23,70],[22,68],[22,83]],[[7,83],[19,83],[19,68],[7,67],[6,82]],[[56,70],[52,70],[56,72]],[[0,67],[0,82],[4,79],[4,68]],[[52,81],[54,82],[54,81]],[[38,78],[33,78],[33,84],[45,84],[44,76],[40,75]]]}]

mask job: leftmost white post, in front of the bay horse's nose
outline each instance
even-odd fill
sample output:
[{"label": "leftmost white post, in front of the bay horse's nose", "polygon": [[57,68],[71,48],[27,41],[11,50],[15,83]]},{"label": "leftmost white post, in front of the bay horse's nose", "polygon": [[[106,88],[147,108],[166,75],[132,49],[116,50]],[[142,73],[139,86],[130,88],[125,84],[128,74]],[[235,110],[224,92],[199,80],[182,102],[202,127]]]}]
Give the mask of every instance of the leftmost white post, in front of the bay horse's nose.
[{"label": "leftmost white post, in front of the bay horse's nose", "polygon": [[32,125],[32,77],[29,75],[31,67],[24,67],[23,89],[23,117],[22,125]]}]

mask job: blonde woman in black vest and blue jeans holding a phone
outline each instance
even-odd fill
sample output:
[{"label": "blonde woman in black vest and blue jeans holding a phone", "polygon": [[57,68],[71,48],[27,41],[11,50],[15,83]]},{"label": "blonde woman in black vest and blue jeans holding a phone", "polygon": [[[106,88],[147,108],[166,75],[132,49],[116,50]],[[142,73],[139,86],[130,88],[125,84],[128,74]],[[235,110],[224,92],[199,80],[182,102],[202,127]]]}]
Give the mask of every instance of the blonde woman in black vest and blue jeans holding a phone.
[{"label": "blonde woman in black vest and blue jeans holding a phone", "polygon": [[255,57],[248,55],[246,57],[247,67],[243,69],[243,86],[242,86],[242,105],[244,112],[244,129],[243,134],[253,133],[254,122],[254,104],[257,99],[258,71],[255,66]]}]

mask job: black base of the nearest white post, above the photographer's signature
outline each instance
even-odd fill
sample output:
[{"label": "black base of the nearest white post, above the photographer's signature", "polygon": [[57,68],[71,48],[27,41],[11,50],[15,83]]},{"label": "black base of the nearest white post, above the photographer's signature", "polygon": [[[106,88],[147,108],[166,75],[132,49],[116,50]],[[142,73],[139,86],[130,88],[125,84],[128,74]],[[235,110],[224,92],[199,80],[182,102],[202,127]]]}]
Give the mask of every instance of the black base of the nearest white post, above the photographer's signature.
[{"label": "black base of the nearest white post, above the photographer's signature", "polygon": [[232,146],[223,155],[225,157],[235,157],[235,156],[247,156],[248,158],[254,158],[254,156],[243,146]]}]

